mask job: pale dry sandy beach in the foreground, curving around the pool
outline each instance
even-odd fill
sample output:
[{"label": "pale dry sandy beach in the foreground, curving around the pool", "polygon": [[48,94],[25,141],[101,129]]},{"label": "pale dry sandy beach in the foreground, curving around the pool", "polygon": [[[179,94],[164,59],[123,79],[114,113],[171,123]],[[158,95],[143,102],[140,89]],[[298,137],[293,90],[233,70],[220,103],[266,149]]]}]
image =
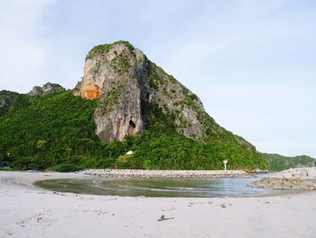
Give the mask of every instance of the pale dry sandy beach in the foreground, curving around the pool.
[{"label": "pale dry sandy beach in the foreground, curving around the pool", "polygon": [[[316,237],[316,192],[144,198],[61,194],[32,186],[68,177],[87,176],[0,172],[0,237]],[[158,222],[162,214],[172,219]]]}]

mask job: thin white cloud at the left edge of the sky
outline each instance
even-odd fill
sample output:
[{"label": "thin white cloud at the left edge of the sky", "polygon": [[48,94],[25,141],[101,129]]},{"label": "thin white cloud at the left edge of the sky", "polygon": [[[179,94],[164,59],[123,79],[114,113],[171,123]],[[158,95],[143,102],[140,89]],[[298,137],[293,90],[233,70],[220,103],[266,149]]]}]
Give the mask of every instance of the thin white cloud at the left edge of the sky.
[{"label": "thin white cloud at the left edge of the sky", "polygon": [[41,81],[38,77],[48,57],[42,18],[52,4],[51,0],[1,2],[1,90],[27,91]]}]

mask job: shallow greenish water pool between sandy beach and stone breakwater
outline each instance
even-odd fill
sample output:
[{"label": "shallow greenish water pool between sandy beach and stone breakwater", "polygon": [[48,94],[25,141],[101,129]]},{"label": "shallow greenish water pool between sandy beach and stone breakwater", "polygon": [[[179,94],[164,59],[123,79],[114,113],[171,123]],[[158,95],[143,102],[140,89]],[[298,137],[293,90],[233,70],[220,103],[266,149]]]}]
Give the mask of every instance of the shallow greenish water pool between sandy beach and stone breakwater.
[{"label": "shallow greenish water pool between sandy beach and stone breakwater", "polygon": [[[266,175],[264,175],[266,176]],[[263,176],[251,178],[147,178],[147,179],[52,179],[35,183],[57,192],[89,195],[147,197],[223,197],[271,195],[277,190],[246,186]]]}]

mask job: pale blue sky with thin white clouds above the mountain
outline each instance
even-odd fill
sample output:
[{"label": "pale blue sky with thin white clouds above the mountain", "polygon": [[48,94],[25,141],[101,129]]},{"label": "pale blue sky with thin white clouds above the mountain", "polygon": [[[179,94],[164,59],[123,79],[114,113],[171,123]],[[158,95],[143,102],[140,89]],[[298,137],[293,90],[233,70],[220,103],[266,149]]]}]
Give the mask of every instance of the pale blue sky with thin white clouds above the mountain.
[{"label": "pale blue sky with thin white clouds above the mountain", "polygon": [[316,1],[0,2],[0,90],[72,89],[89,49],[126,40],[257,150],[316,157]]}]

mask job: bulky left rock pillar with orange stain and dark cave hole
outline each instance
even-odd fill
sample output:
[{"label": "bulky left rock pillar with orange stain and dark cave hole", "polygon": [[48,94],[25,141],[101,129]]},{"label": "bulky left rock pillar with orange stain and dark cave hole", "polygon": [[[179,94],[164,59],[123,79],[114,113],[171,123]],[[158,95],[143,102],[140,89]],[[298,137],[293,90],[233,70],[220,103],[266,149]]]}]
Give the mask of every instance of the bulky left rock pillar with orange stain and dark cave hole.
[{"label": "bulky left rock pillar with orange stain and dark cave hole", "polygon": [[[141,58],[143,57],[143,59]],[[144,54],[127,43],[113,44],[108,51],[92,49],[76,95],[100,98],[95,113],[97,135],[104,141],[122,140],[143,131],[139,71]]]}]

